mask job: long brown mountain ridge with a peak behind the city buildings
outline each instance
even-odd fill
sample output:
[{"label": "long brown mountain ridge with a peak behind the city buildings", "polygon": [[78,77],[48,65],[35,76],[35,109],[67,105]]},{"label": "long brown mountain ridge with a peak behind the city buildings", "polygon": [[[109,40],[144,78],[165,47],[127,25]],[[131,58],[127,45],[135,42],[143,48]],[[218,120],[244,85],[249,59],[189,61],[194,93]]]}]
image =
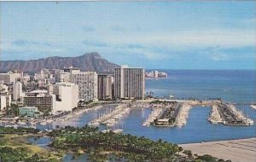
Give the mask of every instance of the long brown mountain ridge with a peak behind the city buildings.
[{"label": "long brown mountain ridge with a peak behind the city buildings", "polygon": [[8,72],[15,69],[23,72],[38,72],[44,68],[61,69],[70,66],[79,67],[82,71],[96,72],[113,72],[115,67],[119,67],[119,65],[102,58],[102,55],[97,52],[91,52],[75,57],[52,56],[28,61],[0,61],[0,72]]}]

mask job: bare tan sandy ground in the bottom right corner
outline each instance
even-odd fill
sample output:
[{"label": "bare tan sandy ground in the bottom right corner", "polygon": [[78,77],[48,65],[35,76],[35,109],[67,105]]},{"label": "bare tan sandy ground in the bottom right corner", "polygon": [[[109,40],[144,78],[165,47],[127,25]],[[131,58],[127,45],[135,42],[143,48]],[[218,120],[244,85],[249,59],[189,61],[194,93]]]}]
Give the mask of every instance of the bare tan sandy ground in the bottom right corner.
[{"label": "bare tan sandy ground in the bottom right corner", "polygon": [[232,162],[256,162],[256,137],[219,142],[202,142],[179,145],[193,153],[210,154]]}]

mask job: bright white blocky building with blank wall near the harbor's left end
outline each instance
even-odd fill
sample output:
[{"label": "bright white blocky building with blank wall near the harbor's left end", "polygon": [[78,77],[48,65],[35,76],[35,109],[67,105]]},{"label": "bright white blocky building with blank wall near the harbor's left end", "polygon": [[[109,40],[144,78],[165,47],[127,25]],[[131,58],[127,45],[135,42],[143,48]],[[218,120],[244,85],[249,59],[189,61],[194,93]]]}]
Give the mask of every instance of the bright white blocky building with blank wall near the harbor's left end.
[{"label": "bright white blocky building with blank wall near the harbor's left end", "polygon": [[[79,86],[73,83],[49,84],[49,95],[55,97],[53,113],[72,111],[79,103]],[[54,96],[55,95],[55,96]]]}]

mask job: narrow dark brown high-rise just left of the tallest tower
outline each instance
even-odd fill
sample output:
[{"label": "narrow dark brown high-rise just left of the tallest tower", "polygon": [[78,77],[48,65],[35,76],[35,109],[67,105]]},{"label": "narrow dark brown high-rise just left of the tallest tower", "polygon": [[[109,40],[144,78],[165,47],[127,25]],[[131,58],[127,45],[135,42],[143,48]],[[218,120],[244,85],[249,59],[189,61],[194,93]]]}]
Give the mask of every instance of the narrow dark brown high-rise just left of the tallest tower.
[{"label": "narrow dark brown high-rise just left of the tallest tower", "polygon": [[98,75],[98,99],[112,99],[113,76]]}]

